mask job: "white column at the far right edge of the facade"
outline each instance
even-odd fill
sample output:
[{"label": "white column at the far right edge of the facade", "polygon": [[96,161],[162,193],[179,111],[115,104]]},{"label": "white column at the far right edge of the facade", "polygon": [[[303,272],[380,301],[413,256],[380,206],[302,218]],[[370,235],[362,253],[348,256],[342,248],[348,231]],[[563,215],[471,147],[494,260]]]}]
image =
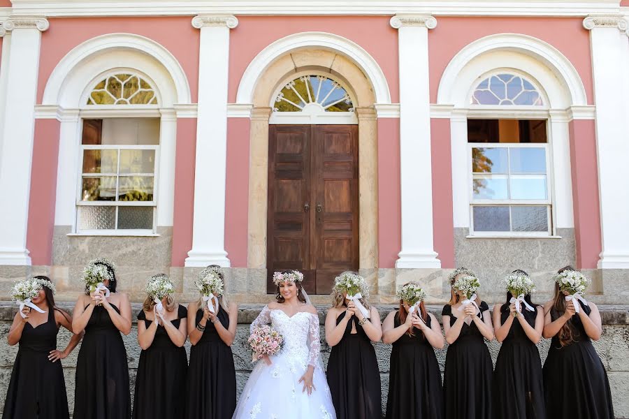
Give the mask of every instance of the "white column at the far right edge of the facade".
[{"label": "white column at the far right edge of the facade", "polygon": [[[590,29],[602,252],[600,269],[629,269],[629,189],[622,173],[629,158],[629,105],[622,93],[629,83],[627,22],[621,15],[588,16]],[[578,170],[578,168],[577,168]]]}]

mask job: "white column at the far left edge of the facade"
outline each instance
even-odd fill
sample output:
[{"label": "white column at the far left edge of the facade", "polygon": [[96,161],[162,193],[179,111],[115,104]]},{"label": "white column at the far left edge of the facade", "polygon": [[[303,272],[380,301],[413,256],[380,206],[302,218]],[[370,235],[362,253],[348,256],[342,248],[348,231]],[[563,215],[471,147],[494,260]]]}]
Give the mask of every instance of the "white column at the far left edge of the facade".
[{"label": "white column at the far left edge of the facade", "polygon": [[35,102],[41,32],[48,20],[10,17],[3,31],[11,32],[6,66],[6,106],[0,150],[0,265],[30,265],[26,248],[31,189],[31,159],[35,131]]}]

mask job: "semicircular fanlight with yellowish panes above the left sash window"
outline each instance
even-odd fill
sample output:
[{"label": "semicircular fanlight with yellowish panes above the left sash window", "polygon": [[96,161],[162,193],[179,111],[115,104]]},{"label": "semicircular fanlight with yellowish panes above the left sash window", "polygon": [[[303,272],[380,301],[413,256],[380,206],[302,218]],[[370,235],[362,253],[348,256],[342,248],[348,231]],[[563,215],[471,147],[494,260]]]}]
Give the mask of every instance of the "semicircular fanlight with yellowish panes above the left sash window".
[{"label": "semicircular fanlight with yellowish panes above the left sash window", "polygon": [[101,80],[87,105],[157,105],[155,90],[136,74],[116,74]]}]

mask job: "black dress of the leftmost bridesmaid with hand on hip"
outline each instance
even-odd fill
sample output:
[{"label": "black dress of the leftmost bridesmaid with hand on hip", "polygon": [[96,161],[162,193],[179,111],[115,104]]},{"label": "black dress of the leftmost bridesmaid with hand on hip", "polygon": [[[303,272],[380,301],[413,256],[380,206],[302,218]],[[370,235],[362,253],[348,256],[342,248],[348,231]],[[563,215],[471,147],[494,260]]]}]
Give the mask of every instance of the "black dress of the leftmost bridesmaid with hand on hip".
[{"label": "black dress of the leftmost bridesmaid with hand on hip", "polygon": [[67,419],[68,398],[60,360],[48,360],[57,349],[55,310],[48,309],[48,321],[36,328],[24,325],[20,348],[13,363],[6,392],[3,419]]}]

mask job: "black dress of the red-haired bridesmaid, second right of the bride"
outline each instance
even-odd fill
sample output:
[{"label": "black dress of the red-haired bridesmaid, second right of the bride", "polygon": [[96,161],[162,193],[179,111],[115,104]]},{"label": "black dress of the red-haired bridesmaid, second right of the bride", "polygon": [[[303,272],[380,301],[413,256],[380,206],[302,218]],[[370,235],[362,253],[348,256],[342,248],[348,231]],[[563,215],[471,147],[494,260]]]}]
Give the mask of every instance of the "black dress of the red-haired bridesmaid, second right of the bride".
[{"label": "black dress of the red-haired bridesmaid, second right of the bride", "polygon": [[[431,327],[431,316],[426,325]],[[394,325],[400,325],[399,311]],[[386,419],[443,418],[441,371],[433,346],[424,333],[413,328],[414,336],[407,333],[393,342],[389,398],[386,401]]]}]

